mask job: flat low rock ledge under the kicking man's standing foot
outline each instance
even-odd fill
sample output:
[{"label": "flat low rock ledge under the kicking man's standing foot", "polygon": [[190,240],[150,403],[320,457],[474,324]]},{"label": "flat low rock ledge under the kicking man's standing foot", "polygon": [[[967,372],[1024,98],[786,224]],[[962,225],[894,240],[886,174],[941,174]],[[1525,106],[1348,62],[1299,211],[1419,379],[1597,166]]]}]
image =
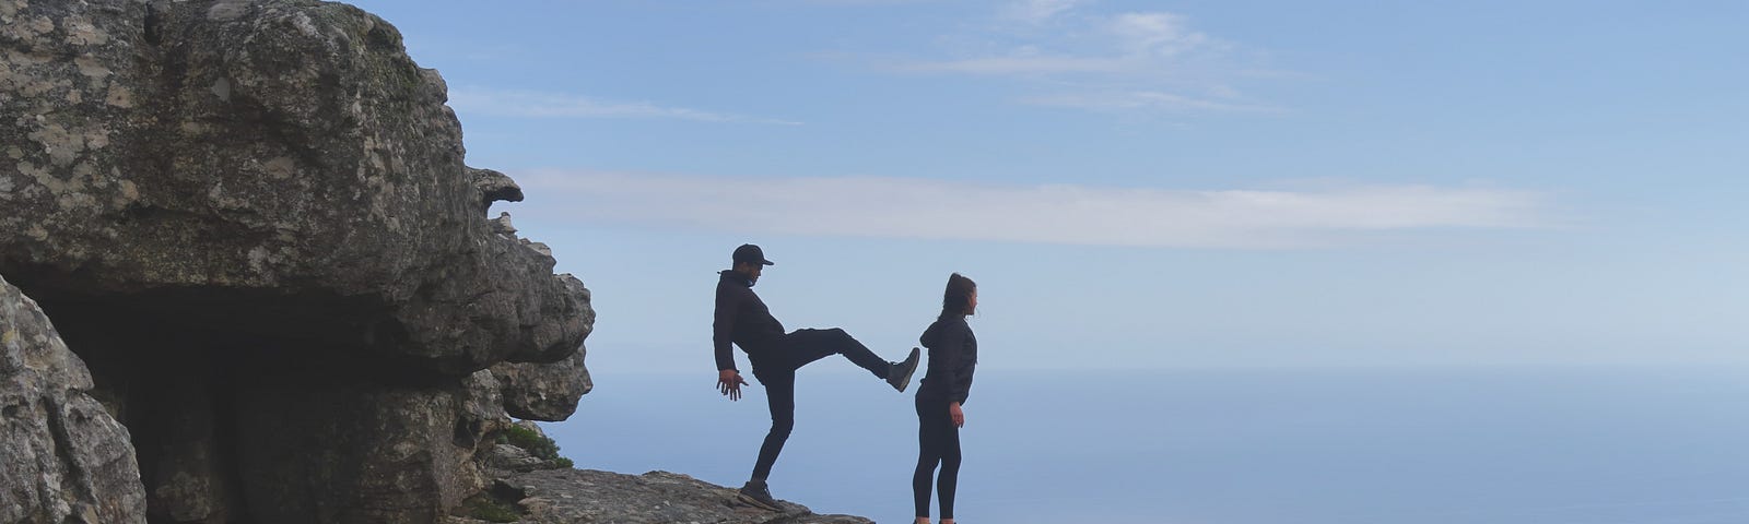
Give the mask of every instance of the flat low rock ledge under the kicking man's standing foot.
[{"label": "flat low rock ledge under the kicking man's standing foot", "polygon": [[754,508],[736,501],[735,489],[668,472],[540,470],[514,475],[493,493],[518,498],[525,522],[873,524],[862,517],[815,515],[787,501],[778,501],[782,512]]}]

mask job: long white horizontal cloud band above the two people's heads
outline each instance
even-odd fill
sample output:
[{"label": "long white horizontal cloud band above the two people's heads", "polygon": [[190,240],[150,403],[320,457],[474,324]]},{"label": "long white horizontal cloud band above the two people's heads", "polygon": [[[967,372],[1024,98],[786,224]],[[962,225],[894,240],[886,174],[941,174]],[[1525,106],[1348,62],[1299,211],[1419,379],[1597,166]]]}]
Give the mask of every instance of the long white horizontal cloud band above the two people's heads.
[{"label": "long white horizontal cloud band above the two people's heads", "polygon": [[[1541,197],[1425,185],[1167,190],[922,178],[717,178],[537,171],[542,220],[754,234],[1168,248],[1305,248],[1364,232],[1543,227]],[[563,203],[551,208],[539,201]]]}]

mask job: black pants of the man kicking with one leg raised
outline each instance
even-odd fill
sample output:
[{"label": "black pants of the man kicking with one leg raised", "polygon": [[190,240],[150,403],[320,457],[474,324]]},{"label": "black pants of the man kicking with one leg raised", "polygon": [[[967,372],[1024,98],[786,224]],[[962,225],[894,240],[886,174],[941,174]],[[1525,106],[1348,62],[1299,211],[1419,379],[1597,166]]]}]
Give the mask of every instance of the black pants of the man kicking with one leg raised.
[{"label": "black pants of the man kicking with one leg raised", "polygon": [[892,363],[881,360],[868,346],[852,339],[841,328],[796,330],[784,335],[784,341],[759,356],[749,355],[754,363],[754,377],[766,388],[766,403],[771,407],[771,431],[759,445],[759,461],[754,463],[754,479],[764,480],[771,475],[777,454],[784,451],[789,431],[796,428],[796,370],[827,355],[843,355],[859,367],[880,379],[887,379]]}]

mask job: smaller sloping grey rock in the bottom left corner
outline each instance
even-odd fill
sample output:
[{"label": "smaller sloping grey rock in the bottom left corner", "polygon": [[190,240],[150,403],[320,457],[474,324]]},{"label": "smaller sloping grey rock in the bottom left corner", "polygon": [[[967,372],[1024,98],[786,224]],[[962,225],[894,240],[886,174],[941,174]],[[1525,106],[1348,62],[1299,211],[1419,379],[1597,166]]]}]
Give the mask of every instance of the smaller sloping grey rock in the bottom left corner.
[{"label": "smaller sloping grey rock in the bottom left corner", "polygon": [[128,428],[17,288],[0,279],[0,522],[145,522]]}]

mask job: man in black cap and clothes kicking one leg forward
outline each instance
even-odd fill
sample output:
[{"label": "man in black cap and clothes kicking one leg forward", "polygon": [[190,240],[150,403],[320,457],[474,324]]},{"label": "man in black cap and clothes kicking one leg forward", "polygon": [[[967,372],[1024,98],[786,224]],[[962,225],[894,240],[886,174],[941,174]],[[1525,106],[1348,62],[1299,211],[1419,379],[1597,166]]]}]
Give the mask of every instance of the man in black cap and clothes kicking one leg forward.
[{"label": "man in black cap and clothes kicking one leg forward", "polygon": [[904,362],[885,362],[841,328],[784,334],[784,325],[771,318],[764,300],[752,290],[759,272],[773,265],[771,260],[766,260],[756,245],[735,248],[733,259],[733,269],[722,271],[717,281],[717,318],[712,337],[717,353],[717,390],[729,400],[740,400],[742,386],[747,384],[735,369],[735,353],[729,349],[729,342],[735,342],[752,362],[754,377],[766,386],[766,403],[771,407],[771,431],[759,445],[759,461],[754,463],[752,479],[742,486],[740,500],[778,512],[777,500],[766,487],[766,477],[771,475],[771,465],[777,463],[784,440],[789,440],[789,431],[796,426],[796,369],[836,353],[904,393],[911,384],[911,374],[916,372],[920,351],[911,348],[911,356]]}]

